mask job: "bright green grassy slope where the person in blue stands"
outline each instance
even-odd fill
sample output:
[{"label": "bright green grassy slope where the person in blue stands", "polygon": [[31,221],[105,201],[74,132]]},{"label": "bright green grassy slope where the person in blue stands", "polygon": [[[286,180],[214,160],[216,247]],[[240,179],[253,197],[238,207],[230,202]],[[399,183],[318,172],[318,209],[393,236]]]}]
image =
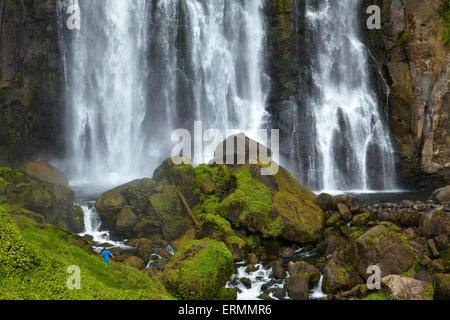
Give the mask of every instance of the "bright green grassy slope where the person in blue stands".
[{"label": "bright green grassy slope where the person in blue stands", "polygon": [[[67,233],[38,228],[25,216],[12,220],[0,206],[0,300],[169,300],[158,279],[68,243]],[[81,271],[81,289],[70,290],[69,266]]]}]

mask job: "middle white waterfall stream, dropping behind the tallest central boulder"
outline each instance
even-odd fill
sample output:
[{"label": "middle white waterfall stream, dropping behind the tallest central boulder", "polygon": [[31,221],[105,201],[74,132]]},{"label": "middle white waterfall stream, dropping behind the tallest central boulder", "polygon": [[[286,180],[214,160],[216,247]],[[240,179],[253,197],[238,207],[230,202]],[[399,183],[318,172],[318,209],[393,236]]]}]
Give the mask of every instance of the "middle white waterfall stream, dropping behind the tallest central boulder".
[{"label": "middle white waterfall stream, dropping behind the tallest central boulder", "polygon": [[208,128],[261,124],[266,98],[262,6],[262,0],[186,0],[196,118]]}]

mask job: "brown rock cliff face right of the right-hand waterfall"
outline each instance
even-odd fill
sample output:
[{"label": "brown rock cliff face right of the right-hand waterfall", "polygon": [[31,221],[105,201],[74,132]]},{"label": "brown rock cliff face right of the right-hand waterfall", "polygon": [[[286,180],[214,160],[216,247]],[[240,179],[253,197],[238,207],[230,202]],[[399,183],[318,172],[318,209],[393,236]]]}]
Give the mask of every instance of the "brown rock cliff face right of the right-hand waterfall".
[{"label": "brown rock cliff face right of the right-hand waterfall", "polygon": [[[403,178],[412,183],[424,182],[424,178],[439,183],[439,176],[450,177],[450,56],[443,41],[446,27],[440,9],[448,1],[375,3],[382,8],[383,26],[366,35],[391,88],[385,111],[401,147]],[[362,9],[370,4],[373,1],[365,1]],[[364,12],[362,16],[367,17]]]}]

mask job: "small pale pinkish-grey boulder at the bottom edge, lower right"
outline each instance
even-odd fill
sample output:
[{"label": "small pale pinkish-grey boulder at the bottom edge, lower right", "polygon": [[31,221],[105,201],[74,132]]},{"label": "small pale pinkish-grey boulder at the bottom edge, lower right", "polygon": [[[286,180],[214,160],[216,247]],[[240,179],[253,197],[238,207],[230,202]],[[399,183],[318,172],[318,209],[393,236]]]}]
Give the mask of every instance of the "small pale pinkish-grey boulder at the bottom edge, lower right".
[{"label": "small pale pinkish-grey boulder at the bottom edge, lower right", "polygon": [[383,292],[390,300],[433,300],[433,286],[425,281],[389,275],[381,283]]}]

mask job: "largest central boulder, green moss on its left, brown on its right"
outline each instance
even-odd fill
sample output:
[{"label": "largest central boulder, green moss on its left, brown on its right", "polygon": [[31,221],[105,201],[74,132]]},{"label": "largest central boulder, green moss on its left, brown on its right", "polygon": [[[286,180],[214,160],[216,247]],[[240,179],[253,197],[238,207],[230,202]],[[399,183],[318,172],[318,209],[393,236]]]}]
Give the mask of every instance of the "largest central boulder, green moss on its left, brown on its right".
[{"label": "largest central boulder, green moss on its left, brown on its right", "polygon": [[[259,149],[266,149],[246,137],[245,143],[245,150],[251,144],[257,145]],[[224,143],[217,150],[223,147]],[[314,193],[300,185],[286,169],[278,165],[277,172],[263,175],[263,166],[250,164],[247,155],[240,155],[239,150],[226,150],[224,154],[227,152],[234,152],[235,159],[242,156],[246,162],[230,166],[237,187],[218,206],[219,214],[235,227],[244,227],[266,238],[281,237],[297,243],[315,242],[322,238],[324,213],[314,203],[317,199]]]}]

